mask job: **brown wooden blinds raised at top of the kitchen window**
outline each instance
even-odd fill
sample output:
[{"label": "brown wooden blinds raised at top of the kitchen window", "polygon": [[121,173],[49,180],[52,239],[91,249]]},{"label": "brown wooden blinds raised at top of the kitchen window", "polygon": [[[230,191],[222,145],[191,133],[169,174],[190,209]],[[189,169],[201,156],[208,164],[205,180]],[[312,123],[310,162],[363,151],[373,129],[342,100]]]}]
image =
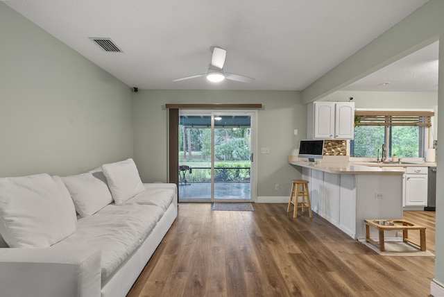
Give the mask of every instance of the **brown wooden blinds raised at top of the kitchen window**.
[{"label": "brown wooden blinds raised at top of the kitchen window", "polygon": [[356,110],[357,126],[432,126],[434,112],[427,111],[364,111]]}]

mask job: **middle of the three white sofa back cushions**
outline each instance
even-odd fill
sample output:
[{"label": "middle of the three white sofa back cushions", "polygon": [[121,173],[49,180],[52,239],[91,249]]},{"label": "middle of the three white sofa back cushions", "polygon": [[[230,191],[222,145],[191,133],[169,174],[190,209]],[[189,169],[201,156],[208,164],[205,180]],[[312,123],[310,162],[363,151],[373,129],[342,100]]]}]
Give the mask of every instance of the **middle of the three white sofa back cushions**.
[{"label": "middle of the three white sofa back cushions", "polygon": [[74,206],[82,217],[90,216],[112,203],[112,196],[102,171],[62,177]]}]

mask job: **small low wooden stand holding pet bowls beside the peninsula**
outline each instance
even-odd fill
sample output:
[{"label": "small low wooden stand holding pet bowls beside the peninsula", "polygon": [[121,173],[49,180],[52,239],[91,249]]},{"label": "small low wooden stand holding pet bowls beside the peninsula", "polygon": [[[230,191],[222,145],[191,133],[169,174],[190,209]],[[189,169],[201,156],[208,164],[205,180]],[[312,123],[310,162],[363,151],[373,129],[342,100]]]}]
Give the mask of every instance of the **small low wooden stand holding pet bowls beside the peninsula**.
[{"label": "small low wooden stand holding pet bowls beside the peninsula", "polygon": [[[366,223],[366,242],[370,242],[377,247],[379,251],[385,251],[384,247],[384,231],[385,230],[402,230],[402,241],[409,242],[415,246],[418,246],[421,251],[425,251],[425,227],[421,227],[406,221],[404,219],[384,220],[384,219],[365,219]],[[379,243],[370,239],[370,226],[377,228],[379,231]],[[409,239],[409,230],[419,230],[420,232],[420,244],[413,242]]]}]

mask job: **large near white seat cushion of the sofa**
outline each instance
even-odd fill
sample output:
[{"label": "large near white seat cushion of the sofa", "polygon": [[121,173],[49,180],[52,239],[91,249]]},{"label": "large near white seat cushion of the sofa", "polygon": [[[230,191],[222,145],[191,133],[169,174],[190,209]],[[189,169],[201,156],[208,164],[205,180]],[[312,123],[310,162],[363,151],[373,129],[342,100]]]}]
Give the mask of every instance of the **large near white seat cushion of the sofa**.
[{"label": "large near white seat cushion of the sofa", "polygon": [[101,278],[106,280],[142,244],[162,217],[155,205],[107,205],[78,219],[77,230],[51,248],[101,251]]}]

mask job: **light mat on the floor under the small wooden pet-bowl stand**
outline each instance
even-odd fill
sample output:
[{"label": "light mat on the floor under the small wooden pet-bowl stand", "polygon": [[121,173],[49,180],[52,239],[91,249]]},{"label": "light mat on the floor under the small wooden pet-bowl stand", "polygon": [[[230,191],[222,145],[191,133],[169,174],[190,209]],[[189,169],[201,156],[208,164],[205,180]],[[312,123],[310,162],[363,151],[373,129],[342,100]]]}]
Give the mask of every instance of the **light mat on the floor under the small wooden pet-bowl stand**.
[{"label": "light mat on the floor under the small wooden pet-bowl stand", "polygon": [[377,246],[370,244],[370,242],[366,242],[365,238],[359,239],[361,244],[368,246],[368,248],[372,249],[376,253],[382,256],[392,256],[392,257],[434,257],[434,253],[429,251],[421,251],[416,246],[413,246],[407,242],[402,241],[402,238],[399,240],[389,240],[384,241],[384,249],[385,251],[379,251]]}]

